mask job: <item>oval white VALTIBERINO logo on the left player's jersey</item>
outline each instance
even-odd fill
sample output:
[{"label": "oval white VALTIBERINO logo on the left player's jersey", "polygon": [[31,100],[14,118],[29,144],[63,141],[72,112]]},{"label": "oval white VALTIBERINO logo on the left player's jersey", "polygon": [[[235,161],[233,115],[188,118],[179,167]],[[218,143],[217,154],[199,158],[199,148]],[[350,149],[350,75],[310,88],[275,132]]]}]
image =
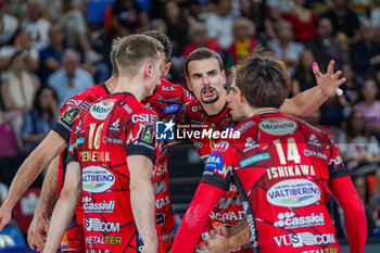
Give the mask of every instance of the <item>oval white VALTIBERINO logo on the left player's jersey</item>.
[{"label": "oval white VALTIBERINO logo on the left player's jersey", "polygon": [[115,176],[100,166],[88,166],[83,172],[83,189],[91,193],[109,190],[115,184]]}]

